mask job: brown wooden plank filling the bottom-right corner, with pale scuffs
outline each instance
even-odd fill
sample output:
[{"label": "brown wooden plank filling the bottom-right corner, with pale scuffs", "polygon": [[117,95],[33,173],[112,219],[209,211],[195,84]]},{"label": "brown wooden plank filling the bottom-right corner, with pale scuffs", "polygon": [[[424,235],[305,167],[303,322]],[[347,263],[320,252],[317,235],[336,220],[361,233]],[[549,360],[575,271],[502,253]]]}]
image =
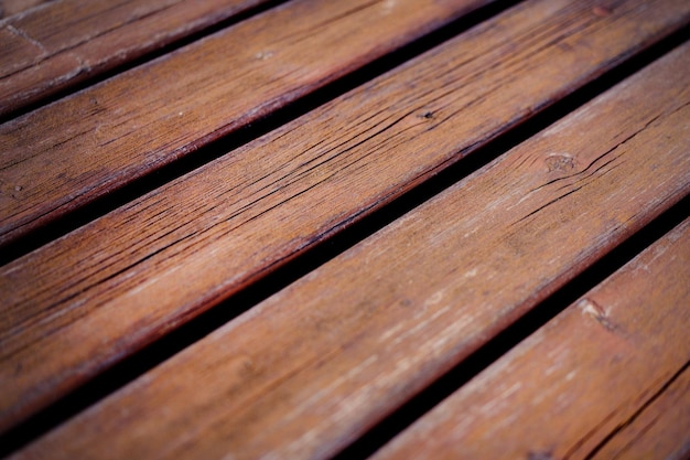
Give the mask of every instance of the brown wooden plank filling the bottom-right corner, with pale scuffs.
[{"label": "brown wooden plank filling the bottom-right corner, with pale scuffs", "polygon": [[690,220],[375,458],[575,460],[602,442],[595,458],[681,458],[690,446],[690,372],[675,374],[690,362],[689,279]]}]

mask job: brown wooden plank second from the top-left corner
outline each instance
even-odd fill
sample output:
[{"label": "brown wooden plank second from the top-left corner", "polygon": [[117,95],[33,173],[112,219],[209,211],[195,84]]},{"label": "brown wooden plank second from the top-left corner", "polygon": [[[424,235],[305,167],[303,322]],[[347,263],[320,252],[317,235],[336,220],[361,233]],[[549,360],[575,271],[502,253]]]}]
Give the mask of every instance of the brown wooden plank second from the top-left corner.
[{"label": "brown wooden plank second from the top-left corner", "polygon": [[0,245],[489,2],[297,0],[8,121]]}]

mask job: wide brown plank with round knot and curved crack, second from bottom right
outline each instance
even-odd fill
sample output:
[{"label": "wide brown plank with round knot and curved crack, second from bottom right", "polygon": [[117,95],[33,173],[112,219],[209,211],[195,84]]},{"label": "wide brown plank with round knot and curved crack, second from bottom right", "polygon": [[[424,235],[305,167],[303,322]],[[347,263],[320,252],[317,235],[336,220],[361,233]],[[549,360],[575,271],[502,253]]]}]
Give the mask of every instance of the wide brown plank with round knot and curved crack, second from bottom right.
[{"label": "wide brown plank with round knot and curved crack, second from bottom right", "polygon": [[689,57],[690,44],[18,458],[333,454],[690,191]]}]

